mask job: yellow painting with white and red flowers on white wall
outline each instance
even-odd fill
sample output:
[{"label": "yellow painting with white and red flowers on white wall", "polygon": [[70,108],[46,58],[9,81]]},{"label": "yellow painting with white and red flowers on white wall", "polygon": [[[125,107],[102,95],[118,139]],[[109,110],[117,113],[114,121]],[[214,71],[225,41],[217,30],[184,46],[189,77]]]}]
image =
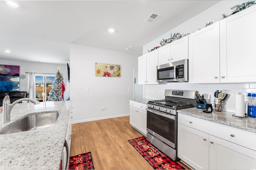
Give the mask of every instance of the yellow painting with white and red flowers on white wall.
[{"label": "yellow painting with white and red flowers on white wall", "polygon": [[120,65],[95,63],[96,76],[120,77]]}]

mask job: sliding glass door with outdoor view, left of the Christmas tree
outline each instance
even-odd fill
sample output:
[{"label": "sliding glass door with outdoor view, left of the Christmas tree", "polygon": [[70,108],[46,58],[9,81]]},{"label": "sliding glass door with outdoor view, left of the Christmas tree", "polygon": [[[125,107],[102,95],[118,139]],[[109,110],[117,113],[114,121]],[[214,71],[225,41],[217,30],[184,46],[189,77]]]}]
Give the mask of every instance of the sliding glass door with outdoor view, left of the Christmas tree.
[{"label": "sliding glass door with outdoor view, left of the Christmas tree", "polygon": [[45,102],[55,80],[54,74],[35,74],[36,100]]}]

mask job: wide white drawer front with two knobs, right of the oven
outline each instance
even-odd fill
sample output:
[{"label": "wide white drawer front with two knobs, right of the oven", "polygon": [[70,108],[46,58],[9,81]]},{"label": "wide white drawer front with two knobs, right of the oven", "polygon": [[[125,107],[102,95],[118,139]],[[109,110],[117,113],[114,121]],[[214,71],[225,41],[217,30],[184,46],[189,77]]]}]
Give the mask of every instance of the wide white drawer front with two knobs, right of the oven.
[{"label": "wide white drawer front with two knobs, right of the oven", "polygon": [[178,123],[256,151],[256,133],[178,113]]}]

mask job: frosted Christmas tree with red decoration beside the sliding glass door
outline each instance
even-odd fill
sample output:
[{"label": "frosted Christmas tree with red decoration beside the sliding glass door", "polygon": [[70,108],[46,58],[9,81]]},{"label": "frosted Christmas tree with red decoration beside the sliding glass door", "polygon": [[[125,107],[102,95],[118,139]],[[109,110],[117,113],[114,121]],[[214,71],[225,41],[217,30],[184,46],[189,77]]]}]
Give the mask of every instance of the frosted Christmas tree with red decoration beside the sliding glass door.
[{"label": "frosted Christmas tree with red decoration beside the sliding glass door", "polygon": [[60,73],[60,68],[58,68],[54,82],[52,83],[52,89],[49,92],[48,101],[61,101],[63,99],[64,90],[65,84],[63,82],[63,76]]}]

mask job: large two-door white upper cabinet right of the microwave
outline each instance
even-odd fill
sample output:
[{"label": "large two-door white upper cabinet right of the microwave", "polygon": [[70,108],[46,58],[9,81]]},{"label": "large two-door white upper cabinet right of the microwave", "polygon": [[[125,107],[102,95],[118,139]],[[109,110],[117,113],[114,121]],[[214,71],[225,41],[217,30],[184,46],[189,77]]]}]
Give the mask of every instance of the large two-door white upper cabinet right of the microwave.
[{"label": "large two-door white upper cabinet right of the microwave", "polygon": [[189,82],[256,81],[256,6],[190,35]]}]

